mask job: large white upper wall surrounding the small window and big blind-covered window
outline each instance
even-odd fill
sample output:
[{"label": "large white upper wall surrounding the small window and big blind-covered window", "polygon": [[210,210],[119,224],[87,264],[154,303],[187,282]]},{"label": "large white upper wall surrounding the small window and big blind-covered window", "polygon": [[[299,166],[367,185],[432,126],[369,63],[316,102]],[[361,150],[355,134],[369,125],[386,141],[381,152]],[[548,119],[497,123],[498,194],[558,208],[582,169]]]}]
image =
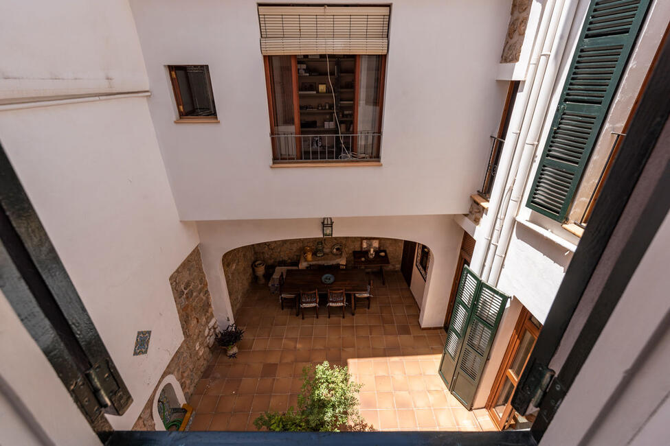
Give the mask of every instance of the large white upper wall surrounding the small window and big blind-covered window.
[{"label": "large white upper wall surrounding the small window and big blind-covered window", "polygon": [[[271,169],[256,3],[132,0],[181,219],[466,212],[504,104],[507,82],[495,75],[510,4],[394,1],[383,167]],[[209,64],[220,124],[173,122],[167,64]],[[337,193],[326,192],[330,186]]]}]

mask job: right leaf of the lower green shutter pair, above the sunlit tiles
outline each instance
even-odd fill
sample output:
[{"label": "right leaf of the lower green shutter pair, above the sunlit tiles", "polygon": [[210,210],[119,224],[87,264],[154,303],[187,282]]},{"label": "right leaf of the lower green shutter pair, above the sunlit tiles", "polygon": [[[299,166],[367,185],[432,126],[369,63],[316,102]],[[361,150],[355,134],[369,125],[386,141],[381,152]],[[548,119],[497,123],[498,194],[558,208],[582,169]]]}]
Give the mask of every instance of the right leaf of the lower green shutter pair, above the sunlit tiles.
[{"label": "right leaf of the lower green shutter pair, above the sunlit tiles", "polygon": [[477,386],[487,362],[491,344],[498,330],[502,312],[509,297],[487,283],[481,283],[465,333],[456,371],[451,379],[451,393],[470,410]]}]

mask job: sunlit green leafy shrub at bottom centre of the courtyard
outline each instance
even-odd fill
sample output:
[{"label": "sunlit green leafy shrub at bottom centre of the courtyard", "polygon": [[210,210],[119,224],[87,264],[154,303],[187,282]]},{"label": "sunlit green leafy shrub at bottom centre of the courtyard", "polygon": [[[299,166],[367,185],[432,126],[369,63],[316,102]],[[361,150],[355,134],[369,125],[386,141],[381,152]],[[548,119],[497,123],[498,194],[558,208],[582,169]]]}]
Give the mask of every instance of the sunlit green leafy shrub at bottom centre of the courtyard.
[{"label": "sunlit green leafy shrub at bottom centre of the courtyard", "polygon": [[331,368],[328,361],[311,365],[302,369],[298,410],[265,412],[254,425],[274,432],[372,430],[358,412],[360,390],[361,385],[351,381],[348,368]]}]

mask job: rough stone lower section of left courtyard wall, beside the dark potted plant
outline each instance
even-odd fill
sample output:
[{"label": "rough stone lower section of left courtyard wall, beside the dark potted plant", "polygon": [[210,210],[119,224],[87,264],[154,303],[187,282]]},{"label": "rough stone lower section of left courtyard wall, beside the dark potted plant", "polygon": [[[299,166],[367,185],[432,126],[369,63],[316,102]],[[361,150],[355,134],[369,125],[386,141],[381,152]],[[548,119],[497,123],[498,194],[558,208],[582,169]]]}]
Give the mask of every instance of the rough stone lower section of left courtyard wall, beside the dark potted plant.
[{"label": "rough stone lower section of left courtyard wall, beside the dark potted plant", "polygon": [[[214,334],[219,329],[212,312],[212,298],[207,287],[199,247],[196,246],[172,273],[170,285],[184,340],[172,356],[158,384],[167,375],[175,375],[188,401],[210,362],[212,352],[209,347],[214,343]],[[133,430],[155,430],[152,405],[157,390],[155,388],[151,393],[133,425]]]}]

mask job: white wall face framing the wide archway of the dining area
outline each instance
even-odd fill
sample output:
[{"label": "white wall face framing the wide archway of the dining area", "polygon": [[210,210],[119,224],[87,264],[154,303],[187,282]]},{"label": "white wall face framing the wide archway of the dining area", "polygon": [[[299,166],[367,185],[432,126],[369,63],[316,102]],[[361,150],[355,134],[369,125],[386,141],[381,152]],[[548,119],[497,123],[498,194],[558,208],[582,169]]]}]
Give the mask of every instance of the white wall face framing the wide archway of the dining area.
[{"label": "white wall face framing the wide archway of the dining area", "polygon": [[[421,327],[442,327],[451,281],[454,279],[463,231],[453,215],[413,215],[378,218],[333,218],[338,237],[388,237],[429,246],[432,267],[421,305]],[[240,246],[303,237],[320,237],[318,219],[236,220],[197,222],[203,267],[207,276],[214,316],[219,325],[233,320],[221,257]]]}]

